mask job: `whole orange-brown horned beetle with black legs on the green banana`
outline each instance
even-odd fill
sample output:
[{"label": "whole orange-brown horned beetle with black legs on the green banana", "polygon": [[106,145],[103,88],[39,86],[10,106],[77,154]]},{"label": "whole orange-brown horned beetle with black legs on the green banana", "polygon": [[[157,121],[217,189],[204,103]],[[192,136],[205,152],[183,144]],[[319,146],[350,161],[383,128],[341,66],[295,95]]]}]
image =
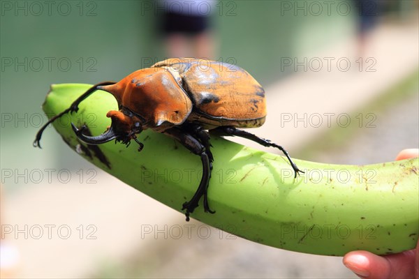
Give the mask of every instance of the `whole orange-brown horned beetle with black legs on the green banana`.
[{"label": "whole orange-brown horned beetle with black legs on the green banana", "polygon": [[186,220],[203,197],[205,212],[214,213],[207,200],[212,162],[210,134],[244,137],[263,146],[281,150],[293,167],[295,177],[302,172],[288,152],[277,144],[239,128],[262,126],[266,117],[265,91],[242,68],[228,63],[205,59],[166,59],[131,73],[119,82],[101,82],[83,93],[71,106],[52,117],[36,135],[34,146],[43,130],[68,112],[77,112],[78,105],[95,91],[111,93],[119,110],[111,110],[110,128],[98,136],[83,133],[86,126],[71,126],[78,139],[86,144],[103,144],[110,140],[129,144],[135,140],[141,151],[143,144],[137,135],[145,129],[164,133],[178,140],[192,153],[200,156],[203,176],[189,202],[185,202]]}]

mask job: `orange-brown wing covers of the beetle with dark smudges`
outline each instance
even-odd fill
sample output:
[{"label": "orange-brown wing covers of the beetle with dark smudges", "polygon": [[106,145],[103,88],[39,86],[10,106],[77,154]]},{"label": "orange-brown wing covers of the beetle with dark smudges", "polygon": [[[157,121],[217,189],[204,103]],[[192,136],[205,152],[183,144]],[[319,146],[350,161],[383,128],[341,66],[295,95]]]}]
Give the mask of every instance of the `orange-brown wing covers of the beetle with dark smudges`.
[{"label": "orange-brown wing covers of the beetle with dark smudges", "polygon": [[[168,59],[152,67],[177,73],[193,103],[193,111],[214,121],[258,127],[266,116],[265,91],[242,68],[204,59]],[[208,119],[208,120],[209,120]],[[233,125],[236,126],[236,125]]]}]

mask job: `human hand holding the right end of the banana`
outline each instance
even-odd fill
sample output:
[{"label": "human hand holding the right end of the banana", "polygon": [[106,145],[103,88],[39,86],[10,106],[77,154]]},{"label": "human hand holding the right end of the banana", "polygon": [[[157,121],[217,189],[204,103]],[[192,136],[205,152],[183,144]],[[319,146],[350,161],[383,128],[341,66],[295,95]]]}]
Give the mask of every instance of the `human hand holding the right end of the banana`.
[{"label": "human hand holding the right end of the banana", "polygon": [[[404,149],[396,160],[416,157],[419,157],[419,149]],[[360,278],[419,279],[419,241],[415,249],[394,255],[378,256],[362,250],[348,252],[343,262]]]}]

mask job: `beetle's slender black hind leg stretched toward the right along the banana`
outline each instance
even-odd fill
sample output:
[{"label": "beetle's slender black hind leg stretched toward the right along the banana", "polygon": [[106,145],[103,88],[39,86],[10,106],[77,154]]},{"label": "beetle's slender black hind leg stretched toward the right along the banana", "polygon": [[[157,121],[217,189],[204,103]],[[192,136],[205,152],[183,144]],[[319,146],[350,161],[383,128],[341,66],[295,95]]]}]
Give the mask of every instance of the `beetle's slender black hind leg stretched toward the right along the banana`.
[{"label": "beetle's slender black hind leg stretched toward the right along the banana", "polygon": [[290,155],[288,154],[288,151],[286,151],[284,149],[284,147],[278,145],[278,144],[274,144],[273,142],[270,142],[270,140],[265,140],[261,137],[258,137],[257,135],[253,135],[247,131],[244,130],[240,130],[240,129],[236,129],[234,127],[231,126],[221,126],[221,127],[217,127],[211,130],[211,132],[214,132],[214,134],[216,135],[221,135],[221,136],[237,136],[237,137],[244,137],[247,140],[252,140],[253,142],[257,142],[258,144],[261,144],[263,146],[266,147],[275,147],[279,150],[282,151],[282,153],[284,153],[284,155],[286,156],[286,158],[288,159],[288,161],[291,164],[291,167],[293,167],[294,170],[294,177],[297,177],[297,174],[299,174],[300,172],[304,173],[301,169],[299,169],[297,167],[297,165],[295,165],[295,163],[293,162],[293,159],[291,159]]}]

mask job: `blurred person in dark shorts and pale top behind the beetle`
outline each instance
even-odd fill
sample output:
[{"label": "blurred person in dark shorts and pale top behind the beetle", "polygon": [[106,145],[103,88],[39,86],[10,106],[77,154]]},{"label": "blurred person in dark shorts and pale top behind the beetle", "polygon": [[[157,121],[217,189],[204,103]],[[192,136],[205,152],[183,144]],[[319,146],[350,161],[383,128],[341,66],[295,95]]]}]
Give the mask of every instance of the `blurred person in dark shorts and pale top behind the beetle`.
[{"label": "blurred person in dark shorts and pale top behind the beetle", "polygon": [[210,21],[215,0],[159,0],[156,4],[164,9],[161,29],[169,57],[214,59]]}]

